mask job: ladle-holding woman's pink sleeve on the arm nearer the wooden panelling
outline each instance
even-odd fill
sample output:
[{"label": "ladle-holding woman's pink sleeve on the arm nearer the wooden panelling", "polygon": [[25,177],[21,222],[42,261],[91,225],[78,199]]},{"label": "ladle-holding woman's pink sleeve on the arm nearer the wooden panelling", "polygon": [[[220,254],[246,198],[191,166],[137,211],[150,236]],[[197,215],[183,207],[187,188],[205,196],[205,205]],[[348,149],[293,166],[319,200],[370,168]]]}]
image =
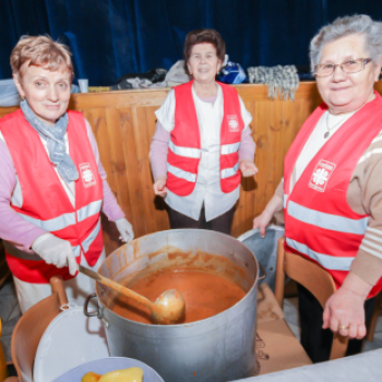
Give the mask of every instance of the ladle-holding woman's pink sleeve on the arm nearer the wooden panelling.
[{"label": "ladle-holding woman's pink sleeve on the arm nearer the wooden panelling", "polygon": [[107,175],[103,164],[99,160],[97,142],[93,134],[91,124],[87,122],[87,120],[86,120],[86,127],[87,127],[88,141],[91,142],[93,154],[98,165],[98,174],[100,176],[100,179],[103,180],[103,189],[104,189],[103,212],[105,213],[105,215],[108,217],[109,220],[115,222],[120,219],[121,217],[124,217],[124,213],[121,210],[121,207],[118,205],[116,196],[110,190],[109,183],[106,180]]}]

